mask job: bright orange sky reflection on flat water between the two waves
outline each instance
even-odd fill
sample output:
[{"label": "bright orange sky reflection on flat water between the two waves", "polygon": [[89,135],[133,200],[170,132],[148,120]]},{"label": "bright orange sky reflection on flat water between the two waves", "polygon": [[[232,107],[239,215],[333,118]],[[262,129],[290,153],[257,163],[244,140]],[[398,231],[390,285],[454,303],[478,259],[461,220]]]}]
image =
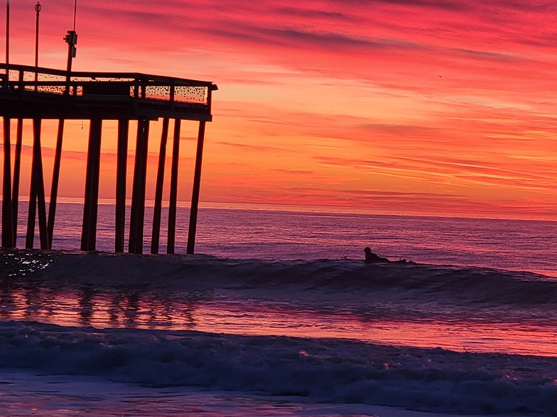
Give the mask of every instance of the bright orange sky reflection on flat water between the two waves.
[{"label": "bright orange sky reflection on flat water between the two waves", "polygon": [[[556,356],[556,329],[542,323],[487,323],[362,318],[280,302],[215,299],[210,293],[176,294],[80,289],[9,289],[0,293],[1,318],[60,326],[199,330],[241,335],[349,338],[373,343],[442,347],[459,352]],[[288,308],[289,307],[289,308]]]}]

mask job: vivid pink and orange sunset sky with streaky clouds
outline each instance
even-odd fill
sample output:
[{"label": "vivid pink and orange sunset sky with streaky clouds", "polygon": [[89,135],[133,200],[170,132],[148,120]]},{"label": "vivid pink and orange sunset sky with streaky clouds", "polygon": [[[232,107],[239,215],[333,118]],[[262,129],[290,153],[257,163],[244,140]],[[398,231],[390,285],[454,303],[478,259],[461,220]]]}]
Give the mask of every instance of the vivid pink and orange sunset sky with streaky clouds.
[{"label": "vivid pink and orange sunset sky with streaky clouds", "polygon": [[[11,63],[34,63],[35,3],[11,0]],[[63,69],[74,1],[40,3],[39,65]],[[557,221],[556,16],[553,1],[78,0],[73,69],[218,85],[202,204]],[[151,125],[148,199],[161,124]],[[180,201],[197,127],[183,123]],[[47,184],[55,128],[43,129]],[[67,123],[62,196],[82,198],[87,129]],[[106,199],[115,129],[105,123],[102,138]]]}]

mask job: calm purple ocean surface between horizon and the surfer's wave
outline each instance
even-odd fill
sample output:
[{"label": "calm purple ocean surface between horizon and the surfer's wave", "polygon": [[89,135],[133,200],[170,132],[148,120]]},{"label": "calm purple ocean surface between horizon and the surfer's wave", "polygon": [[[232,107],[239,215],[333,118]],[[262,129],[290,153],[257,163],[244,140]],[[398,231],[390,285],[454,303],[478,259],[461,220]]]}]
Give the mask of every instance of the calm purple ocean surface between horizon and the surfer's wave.
[{"label": "calm purple ocean surface between horizon and the surfer's wave", "polygon": [[[26,212],[21,204],[20,246],[25,243]],[[145,253],[151,248],[152,213],[153,208],[146,207]],[[163,208],[160,253],[166,252],[167,214]],[[129,220],[129,213],[126,216]],[[185,253],[188,216],[188,208],[178,208],[176,253]],[[53,248],[79,249],[81,223],[81,204],[59,203]],[[38,224],[36,228],[38,248]],[[364,259],[366,246],[391,260],[557,277],[557,221],[200,208],[195,252],[239,259]],[[99,206],[97,250],[114,251],[112,204]]]}]

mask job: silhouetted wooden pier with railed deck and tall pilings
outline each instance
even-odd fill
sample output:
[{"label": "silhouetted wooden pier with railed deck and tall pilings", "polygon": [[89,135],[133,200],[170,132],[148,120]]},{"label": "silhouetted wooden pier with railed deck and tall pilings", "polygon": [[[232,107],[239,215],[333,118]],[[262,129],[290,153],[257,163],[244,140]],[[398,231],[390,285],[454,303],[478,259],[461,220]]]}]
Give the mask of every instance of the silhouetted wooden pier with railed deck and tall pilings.
[{"label": "silhouetted wooden pier with railed deck and tall pilings", "polygon": [[[25,246],[28,249],[33,248],[35,223],[38,215],[40,248],[52,249],[64,121],[77,119],[90,121],[81,250],[96,249],[102,123],[103,121],[114,120],[118,122],[114,250],[115,252],[124,251],[129,122],[137,121],[128,250],[130,253],[142,253],[149,125],[151,121],[161,118],[161,150],[156,177],[151,253],[158,253],[160,240],[163,178],[170,119],[174,121],[174,131],[168,208],[168,253],[173,253],[175,248],[180,123],[183,120],[199,122],[186,249],[187,253],[193,253],[205,123],[212,120],[212,91],[216,89],[217,86],[212,82],[193,79],[127,72],[68,72],[24,65],[0,64],[0,116],[4,119],[2,247],[16,247],[23,120],[31,119],[33,121],[31,192]],[[13,178],[11,174],[11,119],[17,120]],[[41,123],[45,119],[58,120],[48,216],[40,145]]]}]

